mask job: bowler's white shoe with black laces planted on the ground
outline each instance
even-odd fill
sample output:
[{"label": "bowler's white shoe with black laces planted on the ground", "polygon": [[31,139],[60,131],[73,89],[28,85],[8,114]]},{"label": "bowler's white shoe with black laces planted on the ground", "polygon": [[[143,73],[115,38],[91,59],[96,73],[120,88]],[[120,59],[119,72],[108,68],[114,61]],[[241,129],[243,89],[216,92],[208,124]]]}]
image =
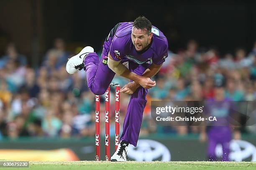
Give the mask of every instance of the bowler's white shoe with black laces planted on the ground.
[{"label": "bowler's white shoe with black laces planted on the ground", "polygon": [[127,148],[129,143],[121,141],[114,155],[110,158],[112,162],[125,162],[127,161]]}]

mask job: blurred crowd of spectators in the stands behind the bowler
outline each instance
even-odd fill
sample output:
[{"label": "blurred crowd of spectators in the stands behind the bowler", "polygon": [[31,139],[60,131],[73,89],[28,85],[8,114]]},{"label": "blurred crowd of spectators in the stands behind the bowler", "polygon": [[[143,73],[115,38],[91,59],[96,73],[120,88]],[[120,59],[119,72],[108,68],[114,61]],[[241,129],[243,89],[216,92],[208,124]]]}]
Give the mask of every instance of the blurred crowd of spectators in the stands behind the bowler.
[{"label": "blurred crowd of spectators in the stands behind the bowler", "polygon": [[[69,75],[65,69],[68,58],[74,53],[65,50],[62,39],[56,39],[38,69],[28,67],[26,56],[20,54],[13,43],[8,45],[5,54],[0,54],[0,138],[95,135],[95,95],[87,88],[85,72],[81,70]],[[225,80],[225,97],[233,101],[255,100],[256,43],[251,51],[238,48],[220,55],[214,48],[201,50],[195,40],[190,40],[183,50],[169,52],[154,79],[156,87],[148,90],[141,135],[199,133],[199,128],[195,127],[152,124],[150,101],[207,100],[214,96],[215,80]],[[128,83],[121,77],[115,77],[113,81],[121,87]],[[110,134],[113,135],[114,89],[111,91]],[[104,95],[101,101],[100,119],[101,127],[104,127]],[[129,95],[121,94],[120,123],[128,101]],[[105,128],[101,130],[104,133]],[[241,130],[243,133],[256,132],[253,126]]]}]

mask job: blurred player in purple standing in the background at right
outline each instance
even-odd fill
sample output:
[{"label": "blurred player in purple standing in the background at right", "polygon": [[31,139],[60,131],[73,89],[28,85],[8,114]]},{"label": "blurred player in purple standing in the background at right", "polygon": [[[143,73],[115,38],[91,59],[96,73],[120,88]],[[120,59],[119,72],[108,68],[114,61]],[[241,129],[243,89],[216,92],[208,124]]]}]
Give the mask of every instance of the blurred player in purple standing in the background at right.
[{"label": "blurred player in purple standing in the background at right", "polygon": [[[216,117],[217,121],[208,122],[206,129],[202,127],[200,140],[205,141],[208,138],[207,160],[217,161],[215,150],[216,146],[220,144],[223,150],[221,160],[229,161],[230,141],[233,135],[231,121],[232,117],[236,116],[235,105],[230,98],[225,97],[224,79],[216,79],[214,86],[214,97],[205,101],[205,113],[208,116]],[[240,138],[239,131],[235,130],[234,138]]]}]

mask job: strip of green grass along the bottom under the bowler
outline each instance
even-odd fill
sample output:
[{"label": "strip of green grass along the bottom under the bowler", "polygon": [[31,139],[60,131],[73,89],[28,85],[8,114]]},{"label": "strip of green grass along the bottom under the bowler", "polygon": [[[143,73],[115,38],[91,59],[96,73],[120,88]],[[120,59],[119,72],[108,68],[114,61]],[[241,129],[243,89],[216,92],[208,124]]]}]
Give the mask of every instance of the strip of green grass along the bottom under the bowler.
[{"label": "strip of green grass along the bottom under the bowler", "polygon": [[[6,168],[4,168],[6,169]],[[7,168],[18,169],[18,168]],[[19,168],[20,169],[20,168]],[[23,169],[23,168],[21,168]],[[106,162],[106,161],[30,161],[33,170],[256,170],[256,162]]]}]

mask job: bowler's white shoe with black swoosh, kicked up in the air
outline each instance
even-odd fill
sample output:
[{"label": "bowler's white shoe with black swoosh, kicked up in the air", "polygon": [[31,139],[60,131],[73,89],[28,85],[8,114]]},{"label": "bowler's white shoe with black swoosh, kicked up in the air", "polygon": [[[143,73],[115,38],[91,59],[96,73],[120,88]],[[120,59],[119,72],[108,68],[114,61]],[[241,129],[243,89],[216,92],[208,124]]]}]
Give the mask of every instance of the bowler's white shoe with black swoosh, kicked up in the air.
[{"label": "bowler's white shoe with black swoosh, kicked up in the air", "polygon": [[69,74],[74,74],[78,70],[84,68],[84,58],[90,53],[94,52],[94,49],[90,46],[84,47],[79,54],[71,57],[66,65],[66,70]]}]

